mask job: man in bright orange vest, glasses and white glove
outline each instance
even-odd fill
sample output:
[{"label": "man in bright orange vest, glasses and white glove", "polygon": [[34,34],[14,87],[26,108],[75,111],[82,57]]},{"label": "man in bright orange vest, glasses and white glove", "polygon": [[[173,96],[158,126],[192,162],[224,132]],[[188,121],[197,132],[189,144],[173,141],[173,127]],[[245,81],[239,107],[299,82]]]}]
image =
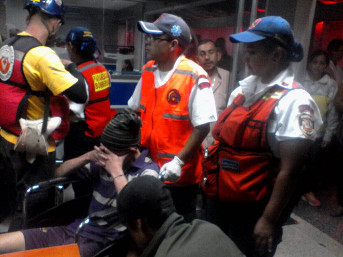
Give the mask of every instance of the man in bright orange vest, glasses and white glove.
[{"label": "man in bright orange vest, glasses and white glove", "polygon": [[161,167],[178,213],[191,221],[202,176],[201,143],[217,119],[210,79],[182,54],[191,34],[180,17],[163,13],[153,23],[138,22],[138,28],[147,34],[151,61],[143,66],[128,105],[141,113],[141,144]]}]

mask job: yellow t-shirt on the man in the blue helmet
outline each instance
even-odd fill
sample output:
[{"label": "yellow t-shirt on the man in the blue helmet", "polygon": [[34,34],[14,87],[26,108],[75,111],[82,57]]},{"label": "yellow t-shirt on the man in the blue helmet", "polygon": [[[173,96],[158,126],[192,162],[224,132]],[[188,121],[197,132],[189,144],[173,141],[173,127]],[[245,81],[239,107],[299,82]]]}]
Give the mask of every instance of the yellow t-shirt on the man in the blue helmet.
[{"label": "yellow t-shirt on the man in the blue helmet", "polygon": [[[19,33],[31,36],[26,32]],[[45,91],[46,88],[54,95],[62,93],[74,85],[78,79],[71,75],[62,64],[57,54],[49,47],[39,46],[29,50],[23,60],[24,76],[32,90]],[[27,118],[36,120],[43,118],[44,97],[30,96],[27,105]],[[17,136],[1,130],[0,135],[15,144]],[[55,142],[49,141],[49,151],[55,150]]]}]

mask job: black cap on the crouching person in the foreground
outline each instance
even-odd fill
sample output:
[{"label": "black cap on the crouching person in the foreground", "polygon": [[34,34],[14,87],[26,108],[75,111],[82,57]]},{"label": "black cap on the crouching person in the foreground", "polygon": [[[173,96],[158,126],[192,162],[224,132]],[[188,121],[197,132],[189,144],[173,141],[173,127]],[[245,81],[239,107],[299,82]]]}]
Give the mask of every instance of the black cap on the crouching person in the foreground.
[{"label": "black cap on the crouching person in the foreground", "polygon": [[173,198],[167,186],[154,176],[144,175],[127,183],[117,197],[121,222],[137,220],[164,208],[173,208]]}]

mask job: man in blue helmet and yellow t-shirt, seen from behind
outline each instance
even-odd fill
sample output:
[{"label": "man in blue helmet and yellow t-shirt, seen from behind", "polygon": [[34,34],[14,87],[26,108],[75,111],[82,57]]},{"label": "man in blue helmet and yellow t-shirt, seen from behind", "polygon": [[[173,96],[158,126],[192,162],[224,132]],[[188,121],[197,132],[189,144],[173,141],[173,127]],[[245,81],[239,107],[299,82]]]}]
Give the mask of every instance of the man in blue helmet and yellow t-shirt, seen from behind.
[{"label": "man in blue helmet and yellow t-shirt, seen from behind", "polygon": [[[45,110],[48,100],[50,110],[59,107],[56,103],[64,100],[62,96],[57,96],[59,94],[80,103],[87,99],[84,79],[76,70],[76,64],[64,68],[57,54],[45,46],[48,38],[56,36],[64,23],[62,1],[26,0],[24,8],[28,10],[26,29],[0,45],[0,161],[1,174],[6,176],[1,179],[1,183],[6,181],[6,190],[1,192],[1,198],[9,198],[7,206],[1,205],[0,219],[10,214],[6,211],[16,208],[16,197],[21,207],[25,184],[50,179],[55,167],[56,144],[51,136],[46,136],[45,154],[35,155],[38,148],[32,146],[38,143],[35,134],[27,136],[25,141],[30,151],[13,150],[22,131],[19,119],[23,118],[27,123],[42,123],[44,112],[47,113],[46,119],[48,116],[49,109]],[[68,108],[65,109],[63,113],[68,112]],[[68,126],[65,128],[68,129]],[[36,134],[42,135],[43,131],[41,133],[37,129]],[[3,189],[3,186],[0,188]],[[10,231],[21,229],[20,212],[15,217],[12,218]]]}]

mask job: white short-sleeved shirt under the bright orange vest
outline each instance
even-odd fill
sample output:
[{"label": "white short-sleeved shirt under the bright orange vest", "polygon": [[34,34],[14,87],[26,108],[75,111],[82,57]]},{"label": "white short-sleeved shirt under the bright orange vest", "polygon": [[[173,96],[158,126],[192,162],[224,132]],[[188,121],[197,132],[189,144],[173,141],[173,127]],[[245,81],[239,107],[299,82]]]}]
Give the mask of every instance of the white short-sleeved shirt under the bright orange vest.
[{"label": "white short-sleeved shirt under the bright orange vest", "polygon": [[[176,60],[173,69],[169,72],[161,72],[159,69],[154,71],[155,76],[155,88],[161,87],[167,83],[173,72],[176,70],[182,58],[185,58],[183,55],[179,56]],[[198,65],[194,63],[194,65]],[[204,77],[200,77],[196,84],[192,87],[191,93],[188,100],[188,111],[189,119],[194,127],[214,122],[217,120],[216,108],[214,103],[214,97],[212,93],[212,88],[205,87],[200,89],[199,84],[208,82],[209,80]],[[134,111],[139,111],[140,101],[141,101],[141,87],[142,87],[142,78],[140,78],[137,83],[136,88],[128,101],[129,107]]]}]

